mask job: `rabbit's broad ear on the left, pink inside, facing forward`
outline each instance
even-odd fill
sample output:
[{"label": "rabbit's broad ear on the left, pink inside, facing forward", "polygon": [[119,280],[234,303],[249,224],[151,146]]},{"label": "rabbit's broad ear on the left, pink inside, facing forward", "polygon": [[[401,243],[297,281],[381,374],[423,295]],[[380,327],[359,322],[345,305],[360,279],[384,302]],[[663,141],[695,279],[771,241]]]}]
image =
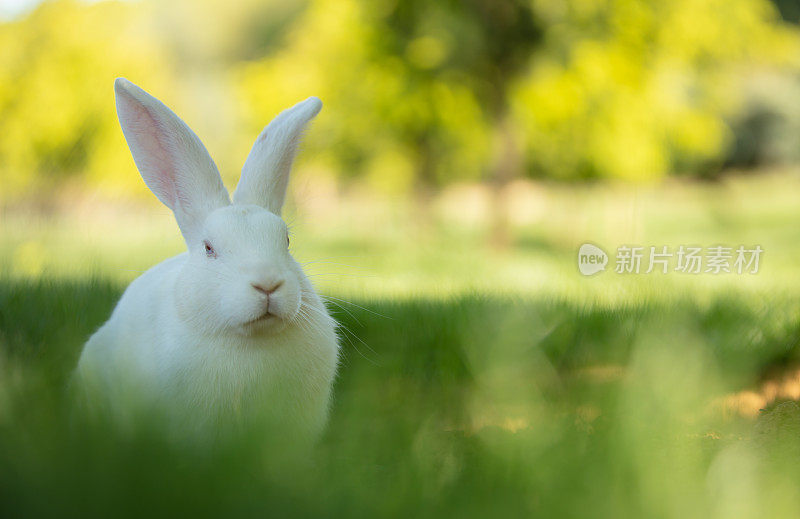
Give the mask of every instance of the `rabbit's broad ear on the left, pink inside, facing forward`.
[{"label": "rabbit's broad ear on the left, pink inside, facing forward", "polygon": [[203,143],[164,103],[118,78],[117,115],[145,184],[167,207],[187,244],[206,215],[230,204],[217,166]]}]

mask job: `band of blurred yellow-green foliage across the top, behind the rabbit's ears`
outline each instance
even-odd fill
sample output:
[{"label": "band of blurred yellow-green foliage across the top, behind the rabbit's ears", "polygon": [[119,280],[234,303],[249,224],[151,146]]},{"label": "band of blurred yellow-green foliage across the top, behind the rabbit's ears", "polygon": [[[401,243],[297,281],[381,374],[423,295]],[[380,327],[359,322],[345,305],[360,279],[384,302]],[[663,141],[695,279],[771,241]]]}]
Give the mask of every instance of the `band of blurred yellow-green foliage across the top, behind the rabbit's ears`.
[{"label": "band of blurred yellow-green foliage across the top, behind the rabbit's ears", "polygon": [[799,32],[768,0],[44,2],[0,25],[3,195],[142,191],[120,75],[206,137],[226,178],[308,95],[326,110],[307,166],[394,193],[715,173],[764,155],[741,153],[747,84],[795,73]]}]

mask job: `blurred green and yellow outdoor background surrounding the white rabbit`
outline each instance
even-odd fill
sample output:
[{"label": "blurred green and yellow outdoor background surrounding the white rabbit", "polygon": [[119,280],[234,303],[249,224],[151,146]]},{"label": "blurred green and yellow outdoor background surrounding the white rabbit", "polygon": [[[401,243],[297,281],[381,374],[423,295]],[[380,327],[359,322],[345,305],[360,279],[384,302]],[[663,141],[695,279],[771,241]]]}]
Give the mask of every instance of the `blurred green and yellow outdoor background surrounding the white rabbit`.
[{"label": "blurred green and yellow outdoor background surrounding the white rabbit", "polygon": [[[796,517],[798,23],[793,0],[0,0],[0,515]],[[184,248],[117,76],[229,188],[323,100],[284,217],[343,360],[302,463],[70,412],[83,342]],[[765,252],[583,277],[586,242]]]}]

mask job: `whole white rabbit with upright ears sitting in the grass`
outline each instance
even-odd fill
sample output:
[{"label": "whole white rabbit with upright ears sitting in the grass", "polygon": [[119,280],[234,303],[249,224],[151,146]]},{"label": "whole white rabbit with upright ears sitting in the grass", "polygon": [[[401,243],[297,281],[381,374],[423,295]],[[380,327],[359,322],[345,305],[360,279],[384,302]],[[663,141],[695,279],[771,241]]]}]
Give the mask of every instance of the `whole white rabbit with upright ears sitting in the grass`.
[{"label": "whole white rabbit with upright ears sitting in the grass", "polygon": [[130,284],[84,346],[76,385],[117,417],[158,415],[179,436],[258,421],[315,436],[338,363],[336,323],[289,253],[279,215],[298,141],[322,103],[311,97],[264,129],[231,204],[178,116],[125,79],[115,91],[136,166],[188,252]]}]

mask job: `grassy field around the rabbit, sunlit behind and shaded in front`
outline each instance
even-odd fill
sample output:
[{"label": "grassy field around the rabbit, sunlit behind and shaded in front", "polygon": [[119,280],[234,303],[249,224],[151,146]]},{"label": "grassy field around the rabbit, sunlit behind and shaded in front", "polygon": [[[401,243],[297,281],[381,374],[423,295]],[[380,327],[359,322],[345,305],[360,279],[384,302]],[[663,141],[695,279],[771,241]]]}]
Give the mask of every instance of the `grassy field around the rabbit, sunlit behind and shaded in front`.
[{"label": "grassy field around the rabbit, sunlit behind and shaded in front", "polygon": [[[800,513],[800,176],[519,185],[512,246],[462,187],[431,220],[296,193],[293,248],[342,323],[303,462],[76,422],[64,397],[126,284],[181,248],[158,206],[0,222],[0,514],[792,517]],[[755,275],[577,270],[592,242],[760,245]],[[760,411],[764,409],[764,411]]]}]

